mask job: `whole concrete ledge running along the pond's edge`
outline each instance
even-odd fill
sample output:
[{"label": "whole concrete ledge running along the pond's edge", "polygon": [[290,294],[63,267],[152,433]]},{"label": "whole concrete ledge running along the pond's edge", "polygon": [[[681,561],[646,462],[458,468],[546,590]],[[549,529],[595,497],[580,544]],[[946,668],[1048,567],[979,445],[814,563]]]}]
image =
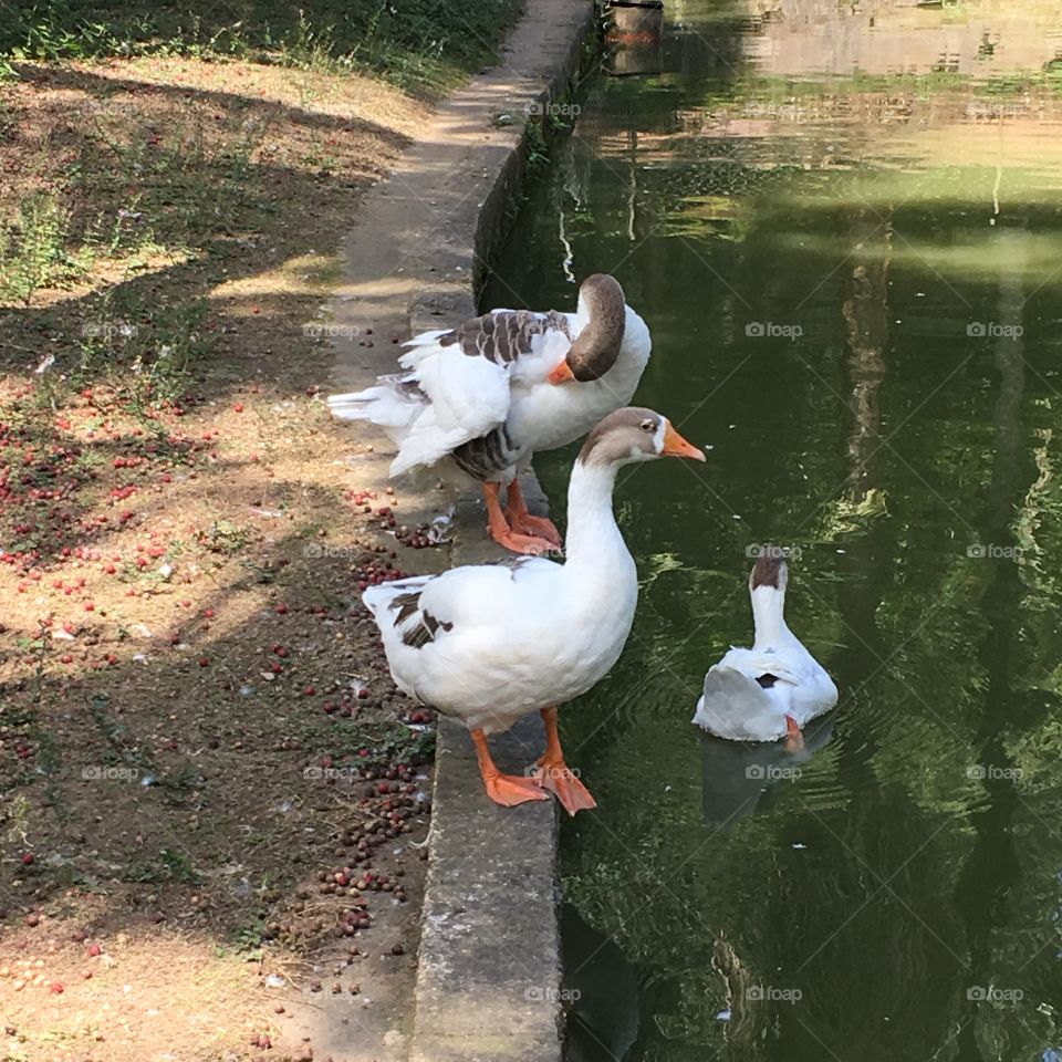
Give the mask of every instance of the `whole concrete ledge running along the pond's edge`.
[{"label": "whole concrete ledge running along the pond's edge", "polygon": [[[497,66],[442,103],[366,196],[332,302],[345,336],[339,387],[394,372],[393,336],[475,314],[514,214],[527,116],[570,87],[594,15],[593,0],[528,0]],[[528,489],[529,500],[538,496]],[[421,500],[437,504],[439,496]],[[478,499],[461,499],[454,564],[502,555],[485,523]],[[522,720],[491,747],[503,770],[521,773],[542,750],[540,720]],[[431,822],[412,1062],[560,1062],[554,803],[490,803],[468,735],[444,721]]]}]

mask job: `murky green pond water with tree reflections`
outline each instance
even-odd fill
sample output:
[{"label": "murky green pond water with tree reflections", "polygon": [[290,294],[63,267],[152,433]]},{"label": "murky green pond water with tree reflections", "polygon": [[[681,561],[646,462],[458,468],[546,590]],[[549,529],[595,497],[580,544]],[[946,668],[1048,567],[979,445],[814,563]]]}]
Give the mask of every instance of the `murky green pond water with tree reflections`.
[{"label": "murky green pond water with tree reflections", "polygon": [[[711,447],[620,477],[638,613],[561,714],[573,1056],[1059,1062],[1062,17],[767,10],[591,74],[483,293],[614,273]],[[761,543],[841,691],[803,754],[690,725]]]}]

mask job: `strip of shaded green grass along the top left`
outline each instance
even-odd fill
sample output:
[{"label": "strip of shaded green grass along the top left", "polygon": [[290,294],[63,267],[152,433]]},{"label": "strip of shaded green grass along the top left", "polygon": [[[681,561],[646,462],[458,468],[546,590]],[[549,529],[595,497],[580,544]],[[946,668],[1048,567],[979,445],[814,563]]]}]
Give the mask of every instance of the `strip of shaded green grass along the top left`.
[{"label": "strip of shaded green grass along the top left", "polygon": [[[424,96],[489,60],[520,0],[52,0],[2,6],[2,58],[236,56],[361,70]],[[8,67],[10,71],[10,66]]]}]

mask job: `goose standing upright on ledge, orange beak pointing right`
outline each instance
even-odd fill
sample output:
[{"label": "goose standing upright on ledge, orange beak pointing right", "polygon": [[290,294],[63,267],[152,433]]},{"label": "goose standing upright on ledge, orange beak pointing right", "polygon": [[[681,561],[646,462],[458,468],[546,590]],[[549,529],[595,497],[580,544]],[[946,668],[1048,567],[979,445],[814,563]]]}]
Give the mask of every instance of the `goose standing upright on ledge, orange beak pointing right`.
[{"label": "goose standing upright on ledge, orange beak pointing right", "polygon": [[[569,814],[596,806],[564,762],[558,706],[586,693],[620,658],[638,597],[612,492],[623,465],[705,455],[652,409],[610,414],[586,438],[568,489],[564,563],[542,556],[455,568],[371,586],[396,685],[471,732],[487,794],[512,806],[553,792]],[[545,751],[534,777],[502,774],[488,736],[538,711]]]}]

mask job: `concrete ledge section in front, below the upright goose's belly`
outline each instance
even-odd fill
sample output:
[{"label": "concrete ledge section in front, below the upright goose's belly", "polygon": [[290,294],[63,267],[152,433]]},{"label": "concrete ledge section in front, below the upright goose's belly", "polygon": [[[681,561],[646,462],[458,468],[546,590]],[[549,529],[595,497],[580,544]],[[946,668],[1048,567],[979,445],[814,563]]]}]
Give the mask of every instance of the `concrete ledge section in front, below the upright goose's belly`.
[{"label": "concrete ledge section in front, below the upright goose's belly", "polygon": [[[525,718],[491,747],[519,774],[542,741]],[[468,735],[442,723],[410,1062],[559,1062],[555,815],[489,803]]]}]

